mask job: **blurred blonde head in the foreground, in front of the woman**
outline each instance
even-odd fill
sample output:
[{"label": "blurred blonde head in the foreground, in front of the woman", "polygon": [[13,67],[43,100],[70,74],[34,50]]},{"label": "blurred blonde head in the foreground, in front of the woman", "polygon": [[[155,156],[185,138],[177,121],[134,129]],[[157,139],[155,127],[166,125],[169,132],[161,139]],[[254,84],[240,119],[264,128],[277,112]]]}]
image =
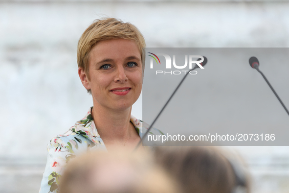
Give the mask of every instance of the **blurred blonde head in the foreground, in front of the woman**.
[{"label": "blurred blonde head in the foreground, in front of the woman", "polygon": [[60,193],[179,193],[152,156],[124,149],[92,152],[69,162]]}]

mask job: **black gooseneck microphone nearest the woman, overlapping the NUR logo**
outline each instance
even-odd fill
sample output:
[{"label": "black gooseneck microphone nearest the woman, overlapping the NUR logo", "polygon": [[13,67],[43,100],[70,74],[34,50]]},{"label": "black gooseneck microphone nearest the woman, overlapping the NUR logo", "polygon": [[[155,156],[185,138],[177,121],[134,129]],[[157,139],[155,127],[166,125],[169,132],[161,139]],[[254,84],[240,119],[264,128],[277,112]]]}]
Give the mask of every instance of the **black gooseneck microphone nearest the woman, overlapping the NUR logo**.
[{"label": "black gooseneck microphone nearest the woman, overlapping the NUR logo", "polygon": [[[205,66],[208,62],[208,59],[203,56],[204,61],[200,63],[201,66]],[[201,58],[199,58],[197,61],[201,60]],[[158,119],[158,117],[160,116],[160,114],[163,112],[163,110],[165,109],[165,107],[167,106],[167,104],[170,102],[170,100],[172,99],[172,97],[175,95],[175,93],[177,92],[179,86],[182,84],[182,82],[184,81],[184,79],[187,77],[187,75],[197,69],[200,68],[199,65],[195,65],[195,67],[190,70],[188,73],[185,74],[185,76],[181,79],[180,83],[178,84],[177,88],[175,89],[174,93],[170,96],[170,98],[168,99],[168,101],[166,102],[166,104],[162,107],[162,109],[160,110],[160,112],[158,113],[158,115],[156,116],[156,119],[153,121],[153,123],[150,125],[149,129],[147,130],[147,132],[145,132],[145,134],[142,136],[142,138],[140,139],[140,141],[138,142],[138,144],[135,146],[134,151],[139,147],[139,145],[141,145],[143,139],[145,139],[147,137],[147,135],[149,134],[150,130],[152,129],[153,125],[155,124],[156,120]]]}]

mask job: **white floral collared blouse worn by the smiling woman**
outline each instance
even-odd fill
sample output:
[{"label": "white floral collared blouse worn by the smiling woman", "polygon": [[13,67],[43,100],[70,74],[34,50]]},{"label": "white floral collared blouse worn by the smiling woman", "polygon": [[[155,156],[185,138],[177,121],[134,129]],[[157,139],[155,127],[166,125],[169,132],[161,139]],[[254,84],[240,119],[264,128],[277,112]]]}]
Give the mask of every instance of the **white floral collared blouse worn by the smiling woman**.
[{"label": "white floral collared blouse worn by the smiling woman", "polygon": [[[91,115],[92,107],[87,115],[80,121],[77,121],[66,133],[58,135],[50,140],[47,145],[47,163],[39,193],[58,193],[59,178],[63,174],[63,170],[67,162],[75,156],[93,149],[103,149],[106,147],[100,138]],[[144,127],[145,130],[149,125],[141,120],[137,120],[131,116],[139,137],[142,138]],[[152,128],[152,132],[164,135],[156,128]],[[154,134],[150,132],[151,134]]]}]

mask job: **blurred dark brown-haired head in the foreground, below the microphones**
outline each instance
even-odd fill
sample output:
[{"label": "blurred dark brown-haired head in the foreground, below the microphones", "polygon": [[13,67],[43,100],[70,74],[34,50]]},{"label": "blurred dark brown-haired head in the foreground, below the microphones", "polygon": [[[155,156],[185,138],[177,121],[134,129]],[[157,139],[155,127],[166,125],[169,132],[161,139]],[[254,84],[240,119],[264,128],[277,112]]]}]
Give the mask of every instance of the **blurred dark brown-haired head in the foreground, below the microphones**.
[{"label": "blurred dark brown-haired head in the foreground, below the microphones", "polygon": [[[240,190],[235,169],[220,149],[159,146],[155,156],[156,163],[175,177],[184,193],[235,193]],[[243,193],[248,193],[247,178],[243,176],[246,185],[241,189]]]}]

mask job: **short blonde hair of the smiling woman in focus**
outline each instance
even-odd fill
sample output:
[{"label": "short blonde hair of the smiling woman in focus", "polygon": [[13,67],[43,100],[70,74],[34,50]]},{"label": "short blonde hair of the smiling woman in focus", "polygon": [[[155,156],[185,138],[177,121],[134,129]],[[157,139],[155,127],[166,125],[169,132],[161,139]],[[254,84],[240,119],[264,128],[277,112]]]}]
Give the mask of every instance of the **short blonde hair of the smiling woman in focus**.
[{"label": "short blonde hair of the smiling woman in focus", "polygon": [[[144,37],[140,31],[131,23],[123,23],[115,18],[102,18],[94,20],[92,24],[83,32],[77,46],[77,64],[81,67],[88,79],[89,77],[89,52],[101,40],[109,39],[133,40],[140,51],[142,61],[142,71],[144,72],[145,54],[143,48],[146,47]],[[88,93],[91,94],[90,90]]]}]

